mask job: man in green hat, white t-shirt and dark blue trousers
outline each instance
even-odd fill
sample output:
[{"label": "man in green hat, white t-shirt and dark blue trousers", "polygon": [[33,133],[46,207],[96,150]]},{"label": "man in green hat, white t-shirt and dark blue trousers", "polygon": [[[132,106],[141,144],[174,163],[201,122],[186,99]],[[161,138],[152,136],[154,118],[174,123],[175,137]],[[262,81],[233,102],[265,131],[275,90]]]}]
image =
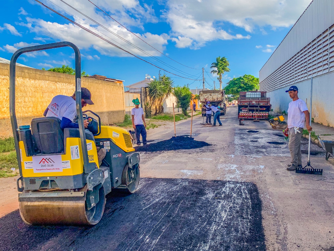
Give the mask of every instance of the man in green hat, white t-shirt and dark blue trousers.
[{"label": "man in green hat, white t-shirt and dark blue trousers", "polygon": [[136,141],[137,146],[140,146],[140,135],[142,135],[143,138],[143,145],[147,144],[146,141],[146,122],[145,122],[145,116],[144,116],[144,110],[143,108],[139,107],[139,99],[133,99],[132,102],[135,104],[135,108],[131,109],[131,117],[132,117],[132,126],[135,129],[136,132]]}]

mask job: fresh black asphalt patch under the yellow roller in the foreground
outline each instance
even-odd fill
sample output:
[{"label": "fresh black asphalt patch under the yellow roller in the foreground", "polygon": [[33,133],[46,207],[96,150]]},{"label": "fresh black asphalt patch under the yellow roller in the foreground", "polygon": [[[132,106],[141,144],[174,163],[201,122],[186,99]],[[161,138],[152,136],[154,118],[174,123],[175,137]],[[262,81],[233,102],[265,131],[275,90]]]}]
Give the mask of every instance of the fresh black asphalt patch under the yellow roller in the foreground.
[{"label": "fresh black asphalt patch under the yellow roller in the foreground", "polygon": [[30,226],[18,210],[0,219],[1,250],[266,250],[261,199],[250,182],[143,178],[107,197],[93,227]]}]

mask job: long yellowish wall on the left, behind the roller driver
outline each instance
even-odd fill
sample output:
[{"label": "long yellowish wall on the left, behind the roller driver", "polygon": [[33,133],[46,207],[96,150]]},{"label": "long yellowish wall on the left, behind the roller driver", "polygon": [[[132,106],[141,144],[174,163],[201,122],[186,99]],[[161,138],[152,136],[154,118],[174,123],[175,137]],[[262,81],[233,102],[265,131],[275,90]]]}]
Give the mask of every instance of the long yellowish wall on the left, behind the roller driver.
[{"label": "long yellowish wall on the left, behind the roller driver", "polygon": [[[94,78],[82,78],[82,87],[92,93],[94,105],[89,109],[100,115],[103,124],[124,120],[124,87]],[[30,124],[32,118],[43,116],[51,99],[58,94],[74,93],[73,75],[49,72],[27,67],[16,67],[16,116],[18,125]],[[0,63],[0,137],[12,136],[9,116],[9,64]]]}]

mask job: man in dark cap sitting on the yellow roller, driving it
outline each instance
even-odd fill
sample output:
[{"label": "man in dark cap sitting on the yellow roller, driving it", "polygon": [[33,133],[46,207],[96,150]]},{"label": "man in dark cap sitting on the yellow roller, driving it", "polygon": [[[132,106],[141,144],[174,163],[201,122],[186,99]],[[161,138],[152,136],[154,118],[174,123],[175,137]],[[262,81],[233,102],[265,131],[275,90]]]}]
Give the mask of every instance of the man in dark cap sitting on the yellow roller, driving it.
[{"label": "man in dark cap sitting on the yellow roller, driving it", "polygon": [[[87,104],[93,105],[91,92],[81,87],[81,107]],[[76,116],[75,92],[72,96],[57,95],[54,96],[43,113],[44,117],[56,117],[60,119],[60,128],[79,128],[79,124],[74,122]],[[88,127],[88,120],[83,120],[83,126]],[[99,165],[102,164],[103,158],[106,157],[106,149],[100,149],[98,153]]]}]

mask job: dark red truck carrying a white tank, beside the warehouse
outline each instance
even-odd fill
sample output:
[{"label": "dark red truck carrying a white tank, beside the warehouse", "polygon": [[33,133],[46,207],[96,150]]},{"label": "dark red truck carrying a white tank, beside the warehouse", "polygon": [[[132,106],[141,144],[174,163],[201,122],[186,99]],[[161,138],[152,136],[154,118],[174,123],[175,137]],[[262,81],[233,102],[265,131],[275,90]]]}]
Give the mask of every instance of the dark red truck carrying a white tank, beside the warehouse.
[{"label": "dark red truck carrying a white tank, beside the warehouse", "polygon": [[268,119],[270,98],[265,91],[241,91],[238,98],[238,119]]}]

